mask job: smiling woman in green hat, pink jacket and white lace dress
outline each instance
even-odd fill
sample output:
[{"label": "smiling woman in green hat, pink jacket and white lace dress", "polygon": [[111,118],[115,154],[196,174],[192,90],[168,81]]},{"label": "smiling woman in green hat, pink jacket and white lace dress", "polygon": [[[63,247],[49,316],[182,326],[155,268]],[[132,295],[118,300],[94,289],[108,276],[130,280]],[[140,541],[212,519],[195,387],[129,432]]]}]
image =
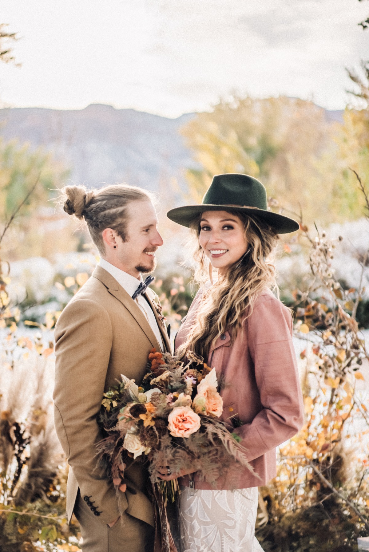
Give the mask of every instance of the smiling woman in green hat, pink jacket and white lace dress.
[{"label": "smiling woman in green hat, pink jacket and white lace dress", "polygon": [[[182,477],[182,550],[256,552],[262,550],[254,535],[257,487],[276,476],[276,446],[303,424],[291,312],[272,293],[277,285],[270,262],[277,234],[298,224],[267,211],[265,188],[244,174],[215,176],[202,205],[167,216],[196,231],[203,284],[177,333],[176,352],[195,351],[216,368],[222,418],[254,469],[235,466],[216,489],[196,474]],[[217,271],[214,283],[204,282],[207,261],[210,277]]]}]

